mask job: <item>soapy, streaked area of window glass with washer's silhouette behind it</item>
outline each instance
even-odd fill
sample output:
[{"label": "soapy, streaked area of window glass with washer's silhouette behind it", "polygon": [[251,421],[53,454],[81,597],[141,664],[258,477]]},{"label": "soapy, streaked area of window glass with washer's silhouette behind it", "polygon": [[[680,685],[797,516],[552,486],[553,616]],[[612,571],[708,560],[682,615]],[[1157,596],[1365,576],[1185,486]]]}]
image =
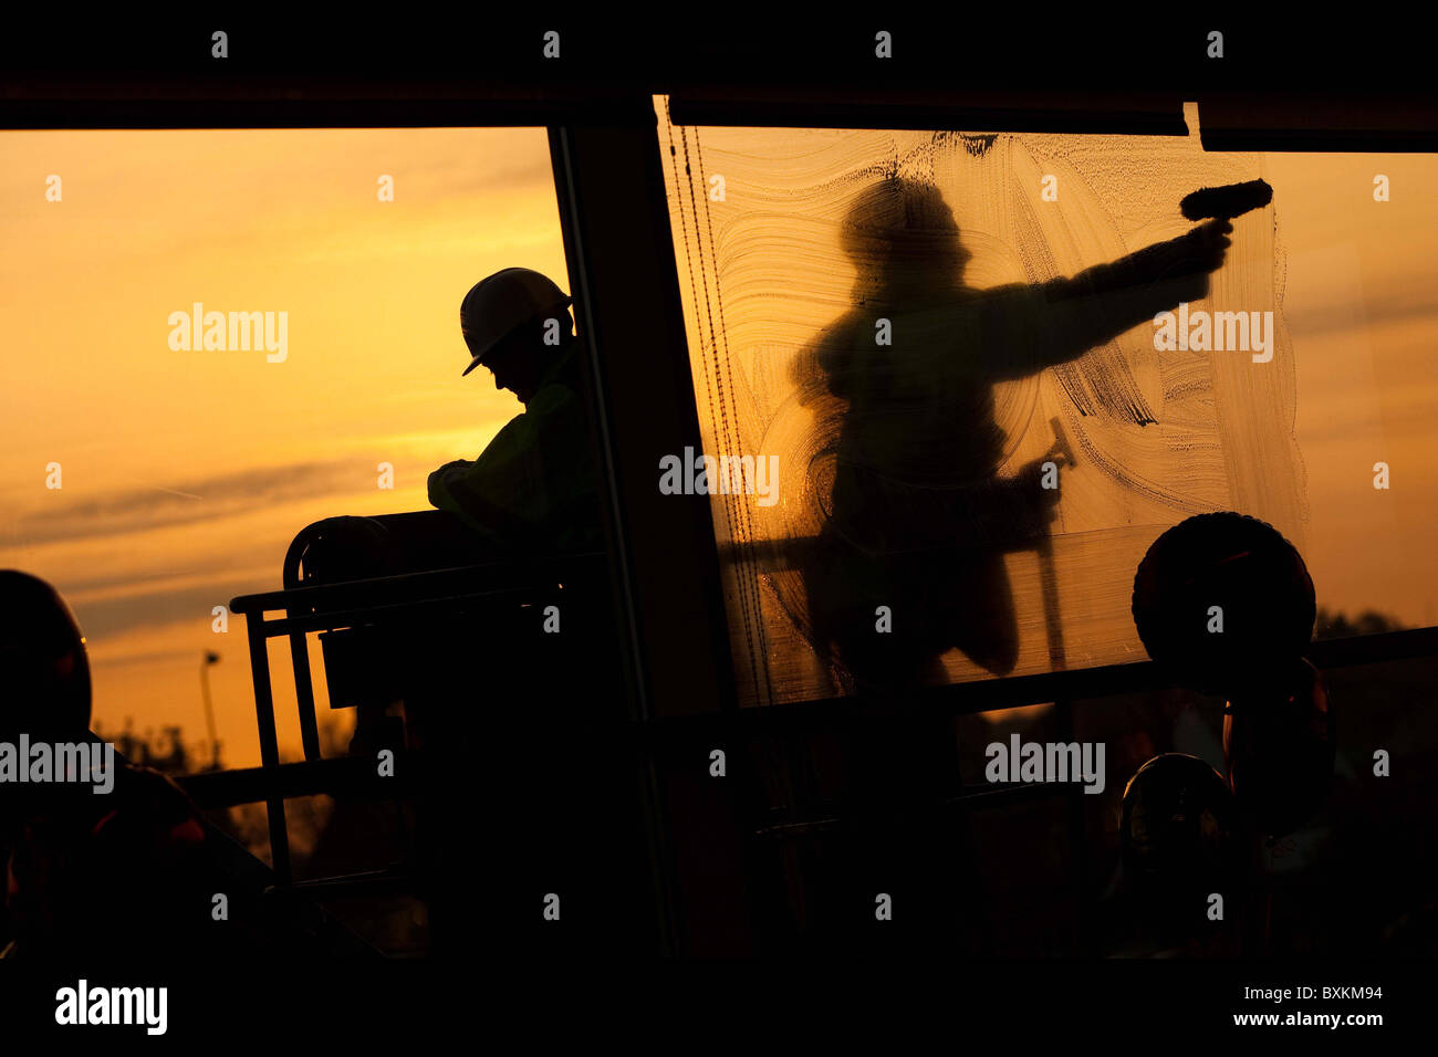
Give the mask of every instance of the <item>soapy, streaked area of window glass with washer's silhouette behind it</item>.
[{"label": "soapy, streaked area of window glass with washer's silhouette behind it", "polygon": [[[779,457],[774,506],[712,496],[742,703],[1140,660],[1133,569],[1165,528],[1237,509],[1303,548],[1281,201],[1234,221],[1206,296],[1160,249],[1096,267],[1192,230],[1179,200],[1260,155],[1204,154],[1196,127],[686,128],[657,106],[705,450]],[[1273,362],[1156,352],[1179,301],[1273,311]],[[1051,420],[1076,462],[1050,511]]]}]

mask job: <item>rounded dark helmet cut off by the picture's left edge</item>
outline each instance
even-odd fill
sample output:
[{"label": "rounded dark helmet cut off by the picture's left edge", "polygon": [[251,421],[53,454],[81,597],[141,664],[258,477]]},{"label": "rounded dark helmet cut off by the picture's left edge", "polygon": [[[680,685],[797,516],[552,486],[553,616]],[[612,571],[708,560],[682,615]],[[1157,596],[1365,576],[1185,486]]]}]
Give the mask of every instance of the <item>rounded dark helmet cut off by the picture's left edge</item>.
[{"label": "rounded dark helmet cut off by the picture's left edge", "polygon": [[0,569],[0,738],[89,728],[89,657],[75,614],[53,587],[16,569]]}]

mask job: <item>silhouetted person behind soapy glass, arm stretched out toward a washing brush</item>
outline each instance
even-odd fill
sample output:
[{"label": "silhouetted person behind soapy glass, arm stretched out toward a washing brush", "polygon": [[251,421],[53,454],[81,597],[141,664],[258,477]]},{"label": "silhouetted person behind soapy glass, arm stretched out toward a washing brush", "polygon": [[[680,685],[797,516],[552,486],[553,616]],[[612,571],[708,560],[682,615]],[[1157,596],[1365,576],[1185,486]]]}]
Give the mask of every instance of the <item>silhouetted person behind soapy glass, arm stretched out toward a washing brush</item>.
[{"label": "silhouetted person behind soapy glass, arm stretched out toward a washing brush", "polygon": [[[969,253],[936,187],[890,178],[844,223],[854,308],[797,362],[837,454],[831,506],[804,577],[814,637],[854,686],[946,682],[961,649],[989,672],[1018,656],[1004,552],[1047,534],[1043,459],[998,477],[994,384],[1081,357],[1208,292],[1225,220],[1068,279],[965,286]],[[887,319],[892,344],[876,342]],[[889,607],[892,633],[876,633]],[[833,654],[831,654],[833,659]]]}]

